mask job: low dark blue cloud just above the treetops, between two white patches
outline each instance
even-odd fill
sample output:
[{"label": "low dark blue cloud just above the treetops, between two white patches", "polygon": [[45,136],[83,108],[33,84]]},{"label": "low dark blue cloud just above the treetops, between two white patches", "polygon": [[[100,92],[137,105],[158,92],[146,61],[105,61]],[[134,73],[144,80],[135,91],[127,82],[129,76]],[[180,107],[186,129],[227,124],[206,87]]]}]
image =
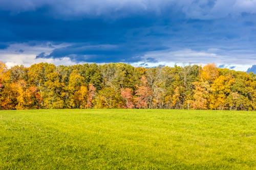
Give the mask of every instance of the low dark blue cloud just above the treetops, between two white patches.
[{"label": "low dark blue cloud just above the treetops, between two white patches", "polygon": [[[149,46],[151,44],[148,44]],[[164,49],[161,45],[152,45],[153,50]],[[136,49],[136,50],[134,50]],[[145,52],[145,47],[139,44],[101,44],[101,45],[88,45],[78,43],[67,47],[57,48],[51,54],[40,54],[38,58],[63,58],[69,57],[73,61],[86,61],[86,62],[138,62],[141,61],[141,54]],[[157,61],[153,58],[148,58],[147,61]]]}]

